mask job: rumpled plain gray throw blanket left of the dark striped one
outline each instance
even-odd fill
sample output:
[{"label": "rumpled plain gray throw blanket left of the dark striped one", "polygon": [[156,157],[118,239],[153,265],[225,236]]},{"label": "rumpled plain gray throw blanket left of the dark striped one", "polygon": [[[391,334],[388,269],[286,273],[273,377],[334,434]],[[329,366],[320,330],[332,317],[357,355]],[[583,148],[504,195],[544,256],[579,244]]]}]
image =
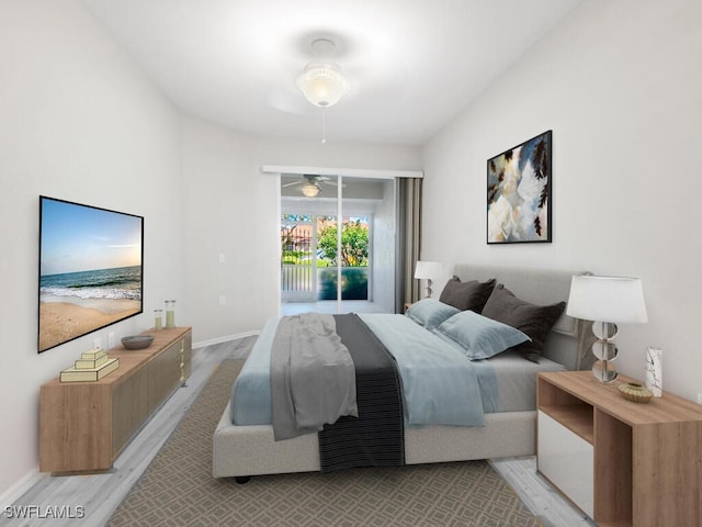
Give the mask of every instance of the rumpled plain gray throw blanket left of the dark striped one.
[{"label": "rumpled plain gray throw blanket left of the dark striped one", "polygon": [[333,316],[284,316],[271,350],[273,436],[276,441],[358,417],[355,371]]}]

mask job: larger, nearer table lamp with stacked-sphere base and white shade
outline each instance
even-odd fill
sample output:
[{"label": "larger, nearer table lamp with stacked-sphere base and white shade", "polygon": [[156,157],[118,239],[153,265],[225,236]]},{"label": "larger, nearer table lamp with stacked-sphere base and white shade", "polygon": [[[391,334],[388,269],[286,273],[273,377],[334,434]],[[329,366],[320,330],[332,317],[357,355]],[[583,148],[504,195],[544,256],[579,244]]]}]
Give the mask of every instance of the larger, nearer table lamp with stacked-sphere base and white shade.
[{"label": "larger, nearer table lamp with stacked-sphere base and white shade", "polygon": [[592,373],[601,382],[612,382],[619,377],[616,359],[619,350],[613,340],[616,324],[644,324],[648,322],[644,290],[637,278],[575,276],[570,282],[570,295],[566,314],[592,322],[597,340],[592,354],[598,359]]}]

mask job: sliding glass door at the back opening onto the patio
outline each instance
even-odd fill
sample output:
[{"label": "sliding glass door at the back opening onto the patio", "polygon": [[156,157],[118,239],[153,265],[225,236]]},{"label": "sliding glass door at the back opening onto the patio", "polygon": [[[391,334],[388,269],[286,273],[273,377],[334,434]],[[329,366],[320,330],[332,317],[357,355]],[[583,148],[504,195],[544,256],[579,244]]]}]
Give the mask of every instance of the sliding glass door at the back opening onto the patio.
[{"label": "sliding glass door at the back opening onto the patio", "polygon": [[[320,303],[336,301],[329,311],[342,313],[359,307],[356,303],[346,309],[343,302],[371,303],[377,301],[377,292],[385,305],[370,311],[393,311],[394,244],[392,250],[378,251],[381,259],[375,250],[376,239],[394,238],[393,189],[392,180],[281,176],[284,303],[315,302],[313,309],[319,309]],[[387,279],[377,290],[376,267]]]}]

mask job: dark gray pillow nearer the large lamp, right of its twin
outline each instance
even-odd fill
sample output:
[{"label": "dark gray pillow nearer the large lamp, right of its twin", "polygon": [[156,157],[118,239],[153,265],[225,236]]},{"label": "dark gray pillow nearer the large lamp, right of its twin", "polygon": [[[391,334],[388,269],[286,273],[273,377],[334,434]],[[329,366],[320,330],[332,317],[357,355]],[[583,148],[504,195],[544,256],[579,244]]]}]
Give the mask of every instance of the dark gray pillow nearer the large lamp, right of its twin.
[{"label": "dark gray pillow nearer the large lamp, right of its twin", "polygon": [[529,345],[520,346],[520,351],[544,350],[546,335],[556,323],[566,303],[558,302],[552,305],[536,305],[518,299],[503,284],[498,284],[483,307],[483,315],[495,321],[502,322],[531,338]]}]

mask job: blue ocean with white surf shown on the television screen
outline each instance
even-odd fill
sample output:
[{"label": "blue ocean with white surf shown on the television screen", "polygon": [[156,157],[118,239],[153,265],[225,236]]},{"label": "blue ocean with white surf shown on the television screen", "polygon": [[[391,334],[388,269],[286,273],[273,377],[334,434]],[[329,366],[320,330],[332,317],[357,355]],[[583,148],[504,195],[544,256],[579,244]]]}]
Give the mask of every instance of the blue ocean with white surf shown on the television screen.
[{"label": "blue ocean with white surf shown on the television screen", "polygon": [[141,267],[117,267],[92,271],[45,274],[39,278],[41,296],[81,300],[141,300]]}]

